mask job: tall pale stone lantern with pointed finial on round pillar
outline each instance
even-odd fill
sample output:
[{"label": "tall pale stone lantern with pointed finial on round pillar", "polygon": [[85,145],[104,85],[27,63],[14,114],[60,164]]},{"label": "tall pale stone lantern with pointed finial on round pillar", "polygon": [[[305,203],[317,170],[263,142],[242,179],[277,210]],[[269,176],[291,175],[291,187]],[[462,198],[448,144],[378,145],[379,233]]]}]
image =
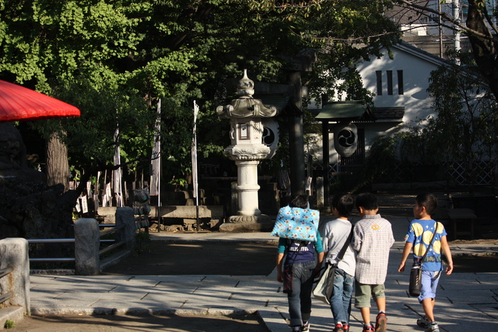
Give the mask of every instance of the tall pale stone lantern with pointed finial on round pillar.
[{"label": "tall pale stone lantern with pointed finial on round pillar", "polygon": [[244,223],[242,228],[258,230],[261,228],[258,224],[271,222],[271,218],[261,214],[258,208],[258,164],[261,159],[275,154],[276,149],[275,144],[263,144],[262,119],[275,117],[278,111],[253,98],[254,82],[248,78],[247,70],[238,82],[237,93],[239,98],[232,100],[230,105],[216,108],[219,117],[231,119],[231,145],[225,149],[225,154],[235,161],[238,175],[238,215],[232,215],[228,223]]}]

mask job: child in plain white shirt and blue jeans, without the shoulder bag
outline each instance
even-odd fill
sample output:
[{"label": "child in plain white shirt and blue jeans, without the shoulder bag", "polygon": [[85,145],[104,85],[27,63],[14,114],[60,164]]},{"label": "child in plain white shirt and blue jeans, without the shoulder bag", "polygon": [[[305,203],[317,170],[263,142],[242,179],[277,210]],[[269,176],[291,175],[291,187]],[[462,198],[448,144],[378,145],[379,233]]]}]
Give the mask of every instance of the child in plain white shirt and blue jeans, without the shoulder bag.
[{"label": "child in plain white shirt and blue jeans, without the shoulder bag", "polygon": [[332,212],[337,218],[324,227],[323,247],[325,262],[337,264],[334,274],[334,292],[330,298],[330,309],[334,316],[334,332],[349,332],[351,315],[351,294],[354,288],[354,269],[356,259],[349,245],[344,257],[337,263],[339,252],[344,247],[352,225],[348,220],[354,208],[354,198],[349,193],[341,193],[332,198]]}]

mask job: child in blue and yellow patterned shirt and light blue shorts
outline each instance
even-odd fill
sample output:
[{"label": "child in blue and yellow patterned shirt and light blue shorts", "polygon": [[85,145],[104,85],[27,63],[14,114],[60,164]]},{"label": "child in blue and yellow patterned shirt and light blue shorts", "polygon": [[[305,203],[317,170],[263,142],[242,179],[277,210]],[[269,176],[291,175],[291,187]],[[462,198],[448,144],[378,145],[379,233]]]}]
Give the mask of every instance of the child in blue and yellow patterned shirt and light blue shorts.
[{"label": "child in blue and yellow patterned shirt and light blue shorts", "polygon": [[[434,306],[436,289],[443,271],[441,250],[447,257],[446,274],[450,275],[453,271],[453,260],[445,227],[431,217],[436,208],[438,208],[438,200],[431,193],[421,193],[415,198],[413,206],[415,220],[408,227],[405,247],[398,268],[398,272],[405,270],[406,259],[413,249],[413,261],[422,263],[422,289],[418,301],[422,304],[425,313],[423,318],[417,320],[417,325],[425,328],[425,332],[439,332],[438,323],[434,318]],[[425,252],[427,255],[424,262],[420,262]]]}]

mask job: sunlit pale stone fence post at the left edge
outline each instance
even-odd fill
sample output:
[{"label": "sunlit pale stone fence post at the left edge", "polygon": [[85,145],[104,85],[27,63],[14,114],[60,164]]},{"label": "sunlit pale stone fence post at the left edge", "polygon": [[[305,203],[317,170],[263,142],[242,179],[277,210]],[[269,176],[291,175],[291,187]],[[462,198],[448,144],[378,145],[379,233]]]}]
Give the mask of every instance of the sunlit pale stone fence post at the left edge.
[{"label": "sunlit pale stone fence post at the left edge", "polygon": [[14,271],[0,278],[3,294],[11,291],[14,296],[4,302],[7,306],[22,306],[30,313],[28,241],[21,237],[0,240],[0,269],[12,267]]}]

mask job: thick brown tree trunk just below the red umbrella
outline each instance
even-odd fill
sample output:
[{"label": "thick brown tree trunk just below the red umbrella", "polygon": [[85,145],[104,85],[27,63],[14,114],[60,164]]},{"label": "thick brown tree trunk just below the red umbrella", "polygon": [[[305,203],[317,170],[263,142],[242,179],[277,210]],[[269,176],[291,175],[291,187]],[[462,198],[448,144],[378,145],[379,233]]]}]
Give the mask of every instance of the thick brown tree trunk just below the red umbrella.
[{"label": "thick brown tree trunk just below the red umbrella", "polygon": [[47,184],[62,183],[64,191],[69,190],[68,147],[53,133],[47,142]]}]

